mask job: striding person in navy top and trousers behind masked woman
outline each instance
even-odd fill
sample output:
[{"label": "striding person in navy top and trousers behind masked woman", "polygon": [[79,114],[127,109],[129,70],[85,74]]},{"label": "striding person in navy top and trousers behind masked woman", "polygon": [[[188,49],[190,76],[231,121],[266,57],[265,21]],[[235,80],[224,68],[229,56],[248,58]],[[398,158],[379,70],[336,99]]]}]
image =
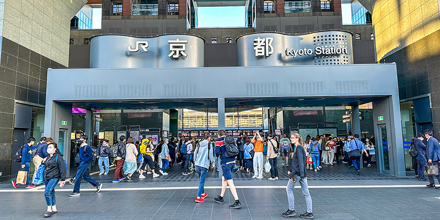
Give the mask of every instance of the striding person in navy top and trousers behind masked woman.
[{"label": "striding person in navy top and trousers behind masked woman", "polygon": [[93,159],[93,152],[91,148],[87,145],[87,135],[82,135],[80,137],[81,146],[79,149],[79,160],[80,164],[78,166],[78,170],[75,176],[75,185],[73,186],[73,193],[69,194],[71,197],[80,196],[79,188],[81,185],[81,179],[88,181],[92,186],[96,187],[96,192],[99,193],[102,189],[102,183],[96,182],[96,180],[90,177],[88,173],[88,167],[90,166],[90,162]]}]

